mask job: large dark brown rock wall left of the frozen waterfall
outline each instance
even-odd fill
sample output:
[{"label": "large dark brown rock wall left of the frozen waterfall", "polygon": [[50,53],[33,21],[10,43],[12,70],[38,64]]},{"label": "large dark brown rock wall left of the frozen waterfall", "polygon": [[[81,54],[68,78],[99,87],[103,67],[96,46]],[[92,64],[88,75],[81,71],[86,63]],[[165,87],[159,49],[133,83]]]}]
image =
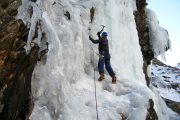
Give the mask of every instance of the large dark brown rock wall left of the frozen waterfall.
[{"label": "large dark brown rock wall left of the frozen waterfall", "polygon": [[21,0],[0,0],[0,120],[25,120],[31,113],[31,76],[38,46],[26,54],[29,30],[15,19]]}]

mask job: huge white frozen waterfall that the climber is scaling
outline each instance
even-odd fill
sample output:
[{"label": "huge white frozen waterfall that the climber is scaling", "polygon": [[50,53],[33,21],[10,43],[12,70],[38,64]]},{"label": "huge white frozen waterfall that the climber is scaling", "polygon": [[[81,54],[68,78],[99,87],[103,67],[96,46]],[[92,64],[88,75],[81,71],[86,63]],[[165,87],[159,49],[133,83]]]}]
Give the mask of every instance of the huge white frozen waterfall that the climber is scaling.
[{"label": "huge white frozen waterfall that the climber is scaling", "polygon": [[[107,74],[104,81],[96,81],[99,119],[121,120],[125,116],[128,120],[145,120],[149,99],[155,100],[159,120],[174,116],[170,110],[164,111],[168,109],[165,104],[157,104],[161,98],[156,98],[157,94],[146,86],[133,16],[135,0],[22,1],[19,18],[31,23],[27,46],[39,19],[40,32],[47,34],[50,45],[46,64],[38,62],[33,73],[35,107],[31,120],[96,120],[94,68],[97,80],[98,56],[97,45],[88,40],[88,28],[97,38],[101,24],[106,25],[105,31],[109,33],[111,64],[117,84],[113,85]],[[29,4],[33,4],[34,11],[31,19],[26,14]],[[92,6],[95,16],[90,23]],[[71,15],[70,20],[64,16],[66,11]]]}]

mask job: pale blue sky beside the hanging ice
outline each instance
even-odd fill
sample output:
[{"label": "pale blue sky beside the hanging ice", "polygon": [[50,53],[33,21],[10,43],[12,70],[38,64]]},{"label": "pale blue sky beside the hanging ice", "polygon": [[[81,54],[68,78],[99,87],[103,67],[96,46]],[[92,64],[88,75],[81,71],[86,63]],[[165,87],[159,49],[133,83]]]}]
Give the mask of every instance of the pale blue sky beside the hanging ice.
[{"label": "pale blue sky beside the hanging ice", "polygon": [[172,49],[166,52],[164,63],[176,66],[180,63],[180,0],[147,0],[148,8],[155,11],[161,27],[168,30]]}]

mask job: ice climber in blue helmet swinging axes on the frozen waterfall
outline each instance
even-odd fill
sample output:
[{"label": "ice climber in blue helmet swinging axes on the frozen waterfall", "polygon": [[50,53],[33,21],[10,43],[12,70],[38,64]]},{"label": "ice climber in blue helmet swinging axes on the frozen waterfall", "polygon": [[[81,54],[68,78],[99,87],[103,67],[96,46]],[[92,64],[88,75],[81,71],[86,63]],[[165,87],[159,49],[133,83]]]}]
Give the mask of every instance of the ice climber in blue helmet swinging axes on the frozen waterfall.
[{"label": "ice climber in blue helmet swinging axes on the frozen waterfall", "polygon": [[107,39],[107,32],[102,32],[102,31],[98,32],[98,40],[94,40],[91,36],[89,36],[89,39],[95,43],[95,44],[99,44],[99,62],[98,62],[98,70],[99,70],[99,74],[100,77],[98,79],[98,81],[102,81],[103,79],[105,79],[104,77],[104,64],[106,67],[106,70],[108,71],[109,75],[112,77],[112,83],[115,84],[116,83],[116,76],[115,73],[111,67],[111,63],[110,63],[110,54],[109,54],[109,44],[108,44],[108,39]]}]

